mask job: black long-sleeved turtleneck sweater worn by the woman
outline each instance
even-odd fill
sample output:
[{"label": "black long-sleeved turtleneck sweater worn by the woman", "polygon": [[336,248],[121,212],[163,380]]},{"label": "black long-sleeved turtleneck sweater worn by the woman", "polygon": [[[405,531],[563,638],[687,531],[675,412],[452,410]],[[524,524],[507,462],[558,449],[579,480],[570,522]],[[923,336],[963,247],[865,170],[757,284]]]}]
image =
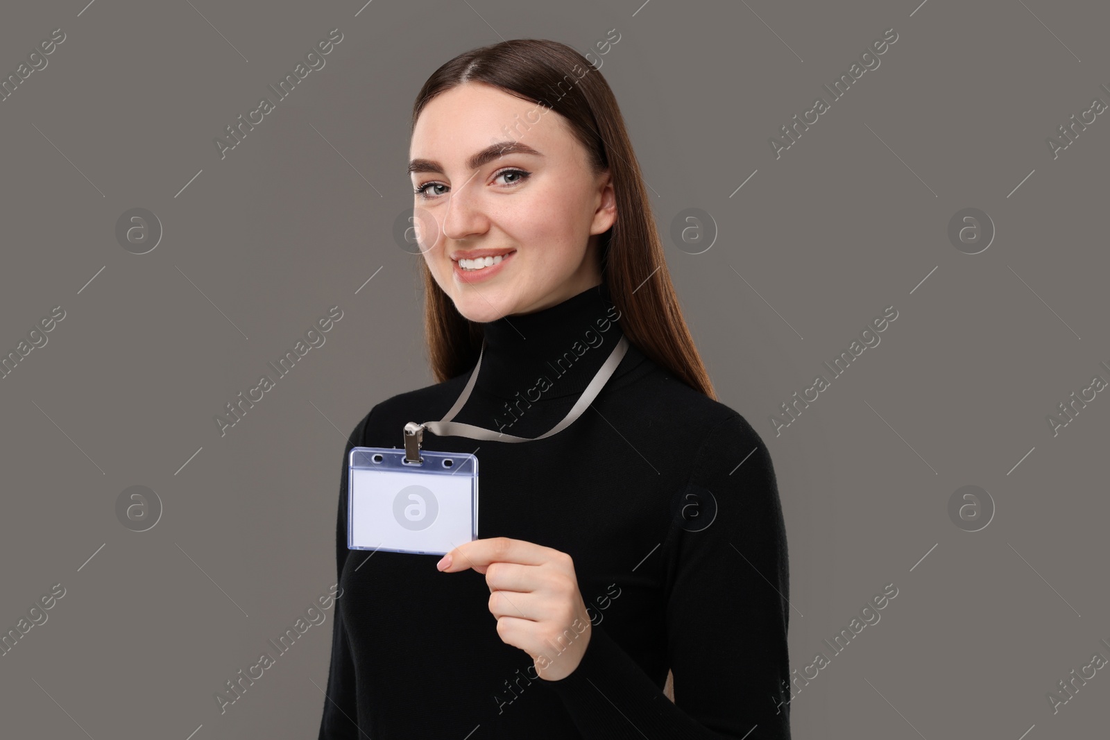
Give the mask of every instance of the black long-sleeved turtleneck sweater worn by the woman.
[{"label": "black long-sleeved turtleneck sweater worn by the woman", "polygon": [[[619,341],[618,317],[602,284],[484,324],[478,378],[453,420],[544,434]],[[347,549],[351,448],[403,447],[405,423],[443,418],[468,378],[389,398],[351,434],[320,738],[789,738],[786,533],[770,455],[744,417],[634,344],[551,437],[424,434],[424,449],[476,450],[478,537],[572,556],[592,633],[569,676],[538,678],[502,641],[485,576],[440,572],[438,555]]]}]

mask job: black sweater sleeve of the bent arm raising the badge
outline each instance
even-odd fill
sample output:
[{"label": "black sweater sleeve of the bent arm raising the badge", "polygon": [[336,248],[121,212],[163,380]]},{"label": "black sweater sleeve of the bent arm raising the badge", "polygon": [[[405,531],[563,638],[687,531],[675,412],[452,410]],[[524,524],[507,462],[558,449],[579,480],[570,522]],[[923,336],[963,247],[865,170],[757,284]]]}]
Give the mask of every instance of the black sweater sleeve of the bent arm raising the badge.
[{"label": "black sweater sleeve of the bent arm raising the badge", "polygon": [[789,740],[786,527],[770,454],[743,416],[709,432],[677,500],[663,548],[674,703],[597,625],[548,686],[587,739]]}]

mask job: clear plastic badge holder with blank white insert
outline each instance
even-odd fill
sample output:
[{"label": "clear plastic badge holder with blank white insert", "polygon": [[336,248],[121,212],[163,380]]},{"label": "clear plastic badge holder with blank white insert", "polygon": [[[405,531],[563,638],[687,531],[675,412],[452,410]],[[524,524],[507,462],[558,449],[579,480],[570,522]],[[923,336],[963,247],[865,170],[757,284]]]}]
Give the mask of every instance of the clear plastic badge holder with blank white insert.
[{"label": "clear plastic badge holder with blank white insert", "polygon": [[347,548],[445,555],[477,539],[478,459],[467,453],[354,447],[347,477]]}]

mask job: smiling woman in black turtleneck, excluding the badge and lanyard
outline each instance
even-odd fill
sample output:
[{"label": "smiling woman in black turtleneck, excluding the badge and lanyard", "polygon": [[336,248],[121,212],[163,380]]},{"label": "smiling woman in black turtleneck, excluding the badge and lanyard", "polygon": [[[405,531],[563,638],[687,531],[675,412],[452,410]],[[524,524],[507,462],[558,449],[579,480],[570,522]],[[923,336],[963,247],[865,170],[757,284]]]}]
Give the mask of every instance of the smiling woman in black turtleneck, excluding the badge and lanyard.
[{"label": "smiling woman in black turtleneck, excluding the badge and lanyard", "polygon": [[[607,83],[553,41],[466,52],[417,95],[410,153],[438,383],[344,453],[320,738],[789,738],[770,456],[716,401]],[[352,447],[444,417],[480,353],[454,420],[528,440],[424,438],[481,460],[480,539],[349,550]]]}]

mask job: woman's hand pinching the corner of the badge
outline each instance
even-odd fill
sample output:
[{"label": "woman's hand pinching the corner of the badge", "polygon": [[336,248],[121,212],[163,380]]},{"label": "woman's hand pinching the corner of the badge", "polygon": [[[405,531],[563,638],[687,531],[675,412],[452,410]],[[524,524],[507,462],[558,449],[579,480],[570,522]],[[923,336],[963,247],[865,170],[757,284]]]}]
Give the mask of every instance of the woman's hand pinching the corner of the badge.
[{"label": "woman's hand pinching the corner of the badge", "polygon": [[444,572],[474,568],[485,575],[497,635],[527,652],[541,678],[557,681],[578,667],[592,629],[569,555],[491,537],[463,543],[436,567]]}]

